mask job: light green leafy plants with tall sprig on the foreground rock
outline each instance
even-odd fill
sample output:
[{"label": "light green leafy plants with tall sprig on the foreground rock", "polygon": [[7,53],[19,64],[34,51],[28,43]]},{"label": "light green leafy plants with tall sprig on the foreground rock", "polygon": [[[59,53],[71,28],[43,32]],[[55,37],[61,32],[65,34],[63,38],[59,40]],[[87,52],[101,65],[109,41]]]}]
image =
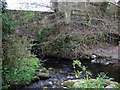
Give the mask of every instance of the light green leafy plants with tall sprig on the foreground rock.
[{"label": "light green leafy plants with tall sprig on the foreground rock", "polygon": [[[81,65],[81,62],[79,60],[73,61],[73,67],[75,76],[78,78],[82,71],[76,70],[76,65],[82,69],[82,71],[86,71],[86,78],[84,78],[85,83],[80,83],[79,86],[76,86],[75,88],[105,88],[107,86],[107,82],[111,82],[113,78],[109,78],[106,76],[105,73],[100,73],[96,79],[91,79],[92,74],[87,71],[87,68],[84,65]],[[118,84],[117,82],[114,82],[115,84]],[[113,86],[114,88],[117,88]],[[118,86],[119,87],[119,86]]]}]

